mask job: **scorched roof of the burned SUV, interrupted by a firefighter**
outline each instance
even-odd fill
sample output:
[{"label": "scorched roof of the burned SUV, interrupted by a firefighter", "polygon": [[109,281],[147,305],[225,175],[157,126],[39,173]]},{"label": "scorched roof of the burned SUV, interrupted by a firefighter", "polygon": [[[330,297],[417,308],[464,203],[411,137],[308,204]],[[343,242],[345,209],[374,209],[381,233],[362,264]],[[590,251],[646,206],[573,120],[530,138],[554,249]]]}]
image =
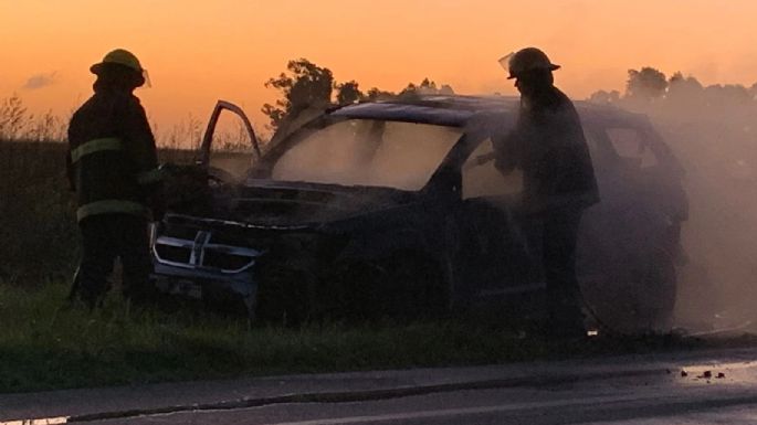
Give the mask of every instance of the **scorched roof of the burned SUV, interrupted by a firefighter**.
[{"label": "scorched roof of the burned SUV, interrupted by a firefighter", "polygon": [[[413,95],[391,100],[358,103],[333,110],[334,116],[355,119],[385,119],[464,127],[471,118],[482,115],[513,115],[519,108],[515,96],[461,96],[461,95]],[[586,100],[574,100],[585,123],[645,121],[642,114],[633,114],[613,105],[600,105]]]}]

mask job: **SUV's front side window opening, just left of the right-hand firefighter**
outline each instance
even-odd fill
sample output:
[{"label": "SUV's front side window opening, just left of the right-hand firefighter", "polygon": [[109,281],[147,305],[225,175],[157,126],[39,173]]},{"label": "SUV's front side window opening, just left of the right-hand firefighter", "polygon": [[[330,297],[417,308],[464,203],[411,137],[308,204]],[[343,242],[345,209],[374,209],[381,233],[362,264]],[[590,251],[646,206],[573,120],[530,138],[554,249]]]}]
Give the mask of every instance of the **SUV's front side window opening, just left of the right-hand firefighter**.
[{"label": "SUV's front side window opening, just left of the right-hand firefighter", "polygon": [[463,199],[506,196],[523,191],[523,173],[515,169],[502,176],[494,167],[494,148],[487,138],[471,153],[463,164]]}]

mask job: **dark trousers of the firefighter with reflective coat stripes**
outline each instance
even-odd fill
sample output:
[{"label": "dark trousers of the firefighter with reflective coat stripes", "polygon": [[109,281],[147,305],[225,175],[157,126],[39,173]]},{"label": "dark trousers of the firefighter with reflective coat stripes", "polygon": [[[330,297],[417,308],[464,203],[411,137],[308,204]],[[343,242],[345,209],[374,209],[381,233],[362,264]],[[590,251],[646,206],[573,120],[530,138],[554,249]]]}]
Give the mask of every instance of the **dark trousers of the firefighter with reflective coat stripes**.
[{"label": "dark trousers of the firefighter with reflective coat stripes", "polygon": [[80,230],[82,262],[71,296],[94,307],[107,291],[107,277],[119,257],[124,296],[135,301],[148,300],[154,288],[149,283],[153,261],[147,220],[130,214],[93,215],[80,222]]}]

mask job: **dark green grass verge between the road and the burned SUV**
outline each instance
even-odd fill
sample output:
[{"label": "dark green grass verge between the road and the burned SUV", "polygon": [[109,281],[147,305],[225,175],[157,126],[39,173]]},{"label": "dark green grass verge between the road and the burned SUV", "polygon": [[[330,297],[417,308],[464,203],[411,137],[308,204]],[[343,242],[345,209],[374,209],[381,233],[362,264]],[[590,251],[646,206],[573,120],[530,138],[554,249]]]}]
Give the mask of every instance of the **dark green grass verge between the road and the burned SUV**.
[{"label": "dark green grass verge between the road and the burned SUV", "polygon": [[[565,344],[497,317],[252,326],[198,306],[62,308],[67,286],[0,284],[0,393],[240,375],[491,364],[702,346],[670,336]],[[522,325],[522,323],[521,323]]]}]

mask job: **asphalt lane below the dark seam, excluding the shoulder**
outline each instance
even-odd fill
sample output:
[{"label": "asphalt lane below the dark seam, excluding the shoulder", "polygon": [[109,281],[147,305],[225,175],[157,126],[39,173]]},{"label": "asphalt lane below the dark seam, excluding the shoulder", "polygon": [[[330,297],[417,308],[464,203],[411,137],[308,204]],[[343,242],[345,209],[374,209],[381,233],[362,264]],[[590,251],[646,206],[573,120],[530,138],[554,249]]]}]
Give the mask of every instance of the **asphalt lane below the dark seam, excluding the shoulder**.
[{"label": "asphalt lane below the dark seam, excluding the shoulder", "polygon": [[[709,378],[706,372],[709,371]],[[723,373],[723,378],[717,378]],[[291,403],[98,424],[755,424],[757,365],[693,364],[642,376],[465,390],[359,403]]]}]

